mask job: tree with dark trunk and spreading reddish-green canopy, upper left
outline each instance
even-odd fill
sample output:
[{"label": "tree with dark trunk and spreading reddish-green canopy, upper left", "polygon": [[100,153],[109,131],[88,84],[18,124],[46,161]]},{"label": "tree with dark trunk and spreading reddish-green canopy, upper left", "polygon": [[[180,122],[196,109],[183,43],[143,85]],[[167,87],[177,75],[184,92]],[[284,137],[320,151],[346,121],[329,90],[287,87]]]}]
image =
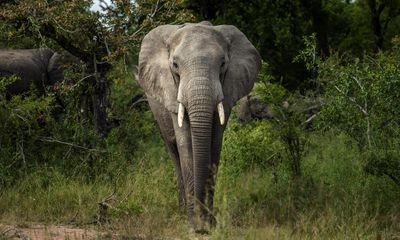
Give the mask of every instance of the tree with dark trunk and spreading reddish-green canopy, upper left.
[{"label": "tree with dark trunk and spreading reddish-green canopy, upper left", "polygon": [[170,0],[113,0],[110,5],[102,1],[104,13],[94,13],[89,10],[91,1],[84,0],[6,1],[1,3],[0,26],[8,36],[0,38],[1,45],[12,48],[13,40],[29,36],[31,41],[24,47],[45,45],[79,58],[86,71],[82,80],[87,91],[81,97],[89,104],[84,111],[92,113],[93,125],[105,137],[110,130],[107,96],[111,81],[107,73],[129,53],[137,55],[142,37],[154,26],[191,18],[180,5]]}]

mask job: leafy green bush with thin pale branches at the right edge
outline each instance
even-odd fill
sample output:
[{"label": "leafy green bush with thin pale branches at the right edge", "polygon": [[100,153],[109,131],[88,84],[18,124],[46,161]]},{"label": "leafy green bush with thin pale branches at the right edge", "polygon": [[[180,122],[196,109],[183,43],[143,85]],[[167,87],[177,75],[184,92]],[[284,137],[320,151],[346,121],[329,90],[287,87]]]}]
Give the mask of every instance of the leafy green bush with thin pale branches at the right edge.
[{"label": "leafy green bush with thin pale branches at the right edge", "polygon": [[366,150],[366,170],[387,175],[400,185],[399,139],[400,52],[376,58],[335,54],[318,64],[324,88],[320,129],[339,129]]}]

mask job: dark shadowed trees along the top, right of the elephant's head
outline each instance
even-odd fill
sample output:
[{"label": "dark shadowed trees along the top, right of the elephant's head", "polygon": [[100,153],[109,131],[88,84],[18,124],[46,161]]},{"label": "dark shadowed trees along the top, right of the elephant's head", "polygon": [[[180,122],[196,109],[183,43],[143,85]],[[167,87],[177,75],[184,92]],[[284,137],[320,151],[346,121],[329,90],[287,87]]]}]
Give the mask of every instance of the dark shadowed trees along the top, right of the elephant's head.
[{"label": "dark shadowed trees along the top, right of the elephant's head", "polygon": [[[186,1],[191,9],[215,24],[233,24],[241,29],[270,64],[276,82],[291,91],[306,91],[316,86],[302,62],[293,58],[304,49],[304,36],[315,34],[314,52],[327,57],[331,51],[362,56],[376,51],[372,24],[377,13],[383,50],[392,46],[399,34],[399,1],[313,0],[313,1]],[[374,11],[370,3],[375,3]],[[382,11],[378,13],[378,9]]]}]

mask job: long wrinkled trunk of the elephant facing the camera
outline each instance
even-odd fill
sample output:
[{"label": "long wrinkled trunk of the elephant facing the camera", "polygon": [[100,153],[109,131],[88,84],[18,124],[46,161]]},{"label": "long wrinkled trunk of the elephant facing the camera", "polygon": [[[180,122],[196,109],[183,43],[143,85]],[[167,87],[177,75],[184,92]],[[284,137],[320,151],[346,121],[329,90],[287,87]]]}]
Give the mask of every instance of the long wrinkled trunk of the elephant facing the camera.
[{"label": "long wrinkled trunk of the elephant facing the camera", "polygon": [[206,183],[210,174],[211,138],[216,107],[212,85],[206,77],[192,78],[189,87],[188,115],[193,147],[193,180],[195,211],[204,213]]}]

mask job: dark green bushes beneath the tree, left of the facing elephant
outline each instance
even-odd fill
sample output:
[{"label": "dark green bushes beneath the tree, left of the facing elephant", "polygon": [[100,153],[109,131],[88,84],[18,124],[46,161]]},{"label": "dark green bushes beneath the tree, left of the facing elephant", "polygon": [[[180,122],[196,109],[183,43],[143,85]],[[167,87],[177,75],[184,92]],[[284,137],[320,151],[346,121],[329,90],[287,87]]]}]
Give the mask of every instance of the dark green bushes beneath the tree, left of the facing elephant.
[{"label": "dark green bushes beneath the tree, left of the facing elephant", "polygon": [[[130,109],[128,96],[137,91],[119,65],[111,73],[114,128],[102,139],[93,127],[85,94],[79,81],[83,71],[68,70],[57,93],[38,96],[35,90],[6,99],[5,87],[15,78],[0,81],[0,184],[11,186],[29,173],[51,166],[66,178],[113,179],[128,171],[138,144],[155,138],[156,125],[146,107]],[[128,88],[127,86],[131,86]],[[64,105],[55,111],[57,98]],[[87,112],[89,111],[89,112]],[[117,117],[118,116],[118,117]]]}]

